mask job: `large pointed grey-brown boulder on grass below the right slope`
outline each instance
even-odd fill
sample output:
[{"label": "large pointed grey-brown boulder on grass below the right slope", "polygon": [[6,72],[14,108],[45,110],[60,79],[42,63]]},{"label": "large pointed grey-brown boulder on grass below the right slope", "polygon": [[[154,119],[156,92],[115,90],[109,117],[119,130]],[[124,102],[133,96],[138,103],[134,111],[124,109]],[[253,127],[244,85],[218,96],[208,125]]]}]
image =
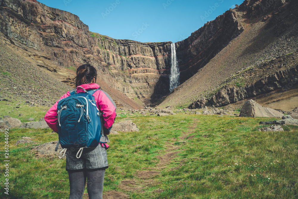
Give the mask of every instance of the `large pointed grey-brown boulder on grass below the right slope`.
[{"label": "large pointed grey-brown boulder on grass below the right slope", "polygon": [[283,114],[277,110],[263,107],[253,100],[248,100],[243,104],[239,116],[250,118],[282,118]]}]

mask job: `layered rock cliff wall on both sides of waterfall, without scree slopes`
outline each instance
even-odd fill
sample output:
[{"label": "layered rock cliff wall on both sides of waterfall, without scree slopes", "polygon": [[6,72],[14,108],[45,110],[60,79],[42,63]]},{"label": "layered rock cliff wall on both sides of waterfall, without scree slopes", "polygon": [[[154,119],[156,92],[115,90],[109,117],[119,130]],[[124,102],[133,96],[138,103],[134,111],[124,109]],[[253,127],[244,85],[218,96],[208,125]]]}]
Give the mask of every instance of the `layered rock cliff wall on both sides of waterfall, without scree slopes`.
[{"label": "layered rock cliff wall on both sides of waterfall, without scree slopes", "polygon": [[[78,16],[35,0],[0,0],[0,32],[60,67],[92,64],[101,80],[150,103],[169,93],[170,44],[117,40],[91,33]],[[229,10],[176,44],[180,82],[237,37],[243,27]]]}]

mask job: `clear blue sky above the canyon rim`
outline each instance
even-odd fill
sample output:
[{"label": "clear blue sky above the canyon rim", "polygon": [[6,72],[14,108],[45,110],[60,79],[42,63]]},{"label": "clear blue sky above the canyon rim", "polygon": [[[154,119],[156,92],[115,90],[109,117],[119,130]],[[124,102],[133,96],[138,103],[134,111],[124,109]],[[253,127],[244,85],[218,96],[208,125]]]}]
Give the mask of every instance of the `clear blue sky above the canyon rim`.
[{"label": "clear blue sky above the canyon rim", "polygon": [[243,0],[38,0],[80,17],[91,32],[140,42],[181,41]]}]

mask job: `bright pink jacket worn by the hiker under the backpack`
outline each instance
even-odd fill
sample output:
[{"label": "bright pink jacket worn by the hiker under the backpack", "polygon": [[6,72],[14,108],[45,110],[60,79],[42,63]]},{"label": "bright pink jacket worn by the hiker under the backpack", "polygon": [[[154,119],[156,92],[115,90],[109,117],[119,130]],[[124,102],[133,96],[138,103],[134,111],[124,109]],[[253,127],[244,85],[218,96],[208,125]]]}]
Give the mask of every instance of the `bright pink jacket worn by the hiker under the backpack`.
[{"label": "bright pink jacket worn by the hiker under the backpack", "polygon": [[[100,86],[98,84],[82,84],[80,87],[83,87],[85,90],[91,90],[91,89],[99,89]],[[79,88],[77,89],[77,92],[84,92],[83,89]],[[70,96],[70,92],[68,91],[66,94],[64,94],[61,98],[66,98]],[[97,101],[97,107],[103,112],[103,118],[104,118],[104,124],[103,127],[108,129],[114,124],[114,120],[116,117],[116,109],[112,102],[109,100],[109,98],[104,94],[103,91],[98,90],[94,92],[93,94],[95,100]],[[60,101],[58,100],[46,113],[44,116],[44,119],[46,123],[49,125],[53,131],[58,132],[58,119],[57,119],[57,104]]]}]

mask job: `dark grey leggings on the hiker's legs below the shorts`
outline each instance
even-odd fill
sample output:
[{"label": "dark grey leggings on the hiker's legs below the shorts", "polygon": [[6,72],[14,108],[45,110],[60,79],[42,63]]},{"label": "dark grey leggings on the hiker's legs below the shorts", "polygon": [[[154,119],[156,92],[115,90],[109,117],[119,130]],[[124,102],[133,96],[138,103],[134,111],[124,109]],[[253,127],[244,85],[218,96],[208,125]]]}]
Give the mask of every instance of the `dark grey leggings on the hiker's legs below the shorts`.
[{"label": "dark grey leggings on the hiker's legs below the shorts", "polygon": [[68,172],[70,195],[69,199],[82,199],[87,178],[89,199],[103,199],[103,179],[105,170]]}]

